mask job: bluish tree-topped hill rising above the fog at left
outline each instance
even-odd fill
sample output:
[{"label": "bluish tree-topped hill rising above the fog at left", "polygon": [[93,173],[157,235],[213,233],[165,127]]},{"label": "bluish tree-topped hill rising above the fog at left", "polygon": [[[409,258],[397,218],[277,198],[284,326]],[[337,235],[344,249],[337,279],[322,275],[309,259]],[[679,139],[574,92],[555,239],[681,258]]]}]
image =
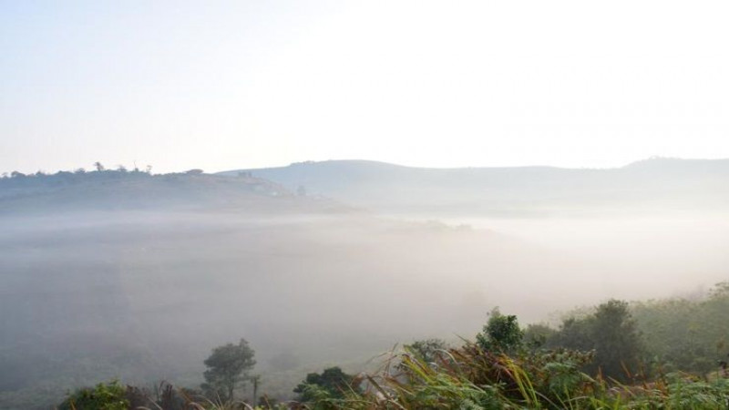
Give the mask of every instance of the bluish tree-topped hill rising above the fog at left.
[{"label": "bluish tree-topped hill rising above the fog at left", "polygon": [[85,210],[240,210],[254,213],[332,211],[343,206],[295,195],[248,174],[231,179],[192,169],[150,174],[99,170],[0,178],[0,213]]}]

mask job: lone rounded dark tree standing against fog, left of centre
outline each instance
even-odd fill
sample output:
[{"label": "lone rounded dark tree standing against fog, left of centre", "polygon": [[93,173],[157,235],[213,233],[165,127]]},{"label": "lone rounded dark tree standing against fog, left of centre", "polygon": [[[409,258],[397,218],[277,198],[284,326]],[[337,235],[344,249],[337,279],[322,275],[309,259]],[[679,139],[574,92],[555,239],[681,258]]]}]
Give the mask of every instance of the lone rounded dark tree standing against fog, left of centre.
[{"label": "lone rounded dark tree standing against fog, left of centre", "polygon": [[208,370],[203,374],[205,383],[202,388],[222,400],[232,400],[233,391],[249,378],[248,372],[256,364],[254,354],[245,339],[241,339],[238,344],[228,343],[216,347],[210,357],[205,359]]}]

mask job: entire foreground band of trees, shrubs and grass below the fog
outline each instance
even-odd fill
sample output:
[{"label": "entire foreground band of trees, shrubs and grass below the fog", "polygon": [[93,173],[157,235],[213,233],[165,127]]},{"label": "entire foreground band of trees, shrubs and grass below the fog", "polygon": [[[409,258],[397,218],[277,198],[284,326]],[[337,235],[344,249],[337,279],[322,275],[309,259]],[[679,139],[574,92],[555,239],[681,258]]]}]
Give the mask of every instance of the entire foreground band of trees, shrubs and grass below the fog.
[{"label": "entire foreground band of trees, shrubs and grass below the fog", "polygon": [[[339,367],[307,374],[287,403],[258,395],[262,379],[251,374],[254,353],[241,339],[212,351],[200,390],[162,384],[152,394],[112,382],[78,390],[61,408],[724,408],[729,326],[713,321],[727,307],[729,283],[702,300],[603,302],[557,328],[522,328],[516,316],[495,309],[474,342],[416,341],[373,374]],[[692,332],[701,320],[705,332]],[[718,342],[714,351],[706,350],[710,341]],[[252,403],[236,395],[245,383],[254,386]]]}]

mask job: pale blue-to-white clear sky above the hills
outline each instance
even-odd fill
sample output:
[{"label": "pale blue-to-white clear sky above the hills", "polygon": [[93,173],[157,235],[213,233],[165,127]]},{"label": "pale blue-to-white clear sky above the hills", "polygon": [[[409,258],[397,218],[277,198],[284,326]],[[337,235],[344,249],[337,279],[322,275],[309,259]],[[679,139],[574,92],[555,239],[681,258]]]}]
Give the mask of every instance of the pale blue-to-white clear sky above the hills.
[{"label": "pale blue-to-white clear sky above the hills", "polygon": [[729,158],[729,4],[0,0],[0,172]]}]

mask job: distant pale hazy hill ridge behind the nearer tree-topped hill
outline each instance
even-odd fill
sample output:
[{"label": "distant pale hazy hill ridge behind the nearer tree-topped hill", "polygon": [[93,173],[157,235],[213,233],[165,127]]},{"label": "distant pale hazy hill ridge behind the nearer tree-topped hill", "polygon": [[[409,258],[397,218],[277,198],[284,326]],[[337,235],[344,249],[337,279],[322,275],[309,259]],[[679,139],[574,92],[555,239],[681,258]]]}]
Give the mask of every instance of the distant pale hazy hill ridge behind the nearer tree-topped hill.
[{"label": "distant pale hazy hill ridge behind the nearer tree-topped hill", "polygon": [[619,169],[409,168],[364,160],[295,163],[251,173],[289,190],[392,212],[550,214],[724,210],[729,159],[646,159]]}]

